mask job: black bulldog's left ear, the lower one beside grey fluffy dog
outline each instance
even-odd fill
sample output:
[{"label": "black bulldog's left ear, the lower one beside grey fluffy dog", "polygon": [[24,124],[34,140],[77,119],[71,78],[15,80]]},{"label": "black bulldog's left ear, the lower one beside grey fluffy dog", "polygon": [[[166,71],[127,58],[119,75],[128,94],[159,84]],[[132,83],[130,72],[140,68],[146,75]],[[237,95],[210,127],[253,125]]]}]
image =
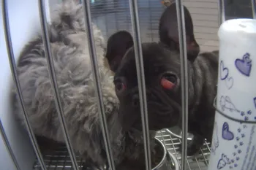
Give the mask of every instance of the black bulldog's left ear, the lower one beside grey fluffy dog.
[{"label": "black bulldog's left ear, the lower one beside grey fluffy dog", "polygon": [[110,36],[108,39],[106,58],[113,72],[116,72],[124,54],[132,46],[132,35],[127,31],[118,31]]}]

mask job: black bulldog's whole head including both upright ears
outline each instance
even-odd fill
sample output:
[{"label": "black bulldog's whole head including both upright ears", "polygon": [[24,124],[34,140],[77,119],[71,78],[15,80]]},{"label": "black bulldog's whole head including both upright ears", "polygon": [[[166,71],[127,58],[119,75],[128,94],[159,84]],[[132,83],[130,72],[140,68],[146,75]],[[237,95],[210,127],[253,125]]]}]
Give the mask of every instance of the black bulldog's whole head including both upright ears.
[{"label": "black bulldog's whole head including both upright ears", "polygon": [[[187,29],[187,56],[194,61],[199,46],[193,34],[192,18],[184,8]],[[181,119],[181,67],[176,4],[165,9],[159,23],[160,42],[142,44],[150,130],[177,125]],[[108,39],[106,58],[115,72],[114,84],[120,100],[119,117],[125,131],[141,127],[138,76],[132,36],[118,31]]]}]

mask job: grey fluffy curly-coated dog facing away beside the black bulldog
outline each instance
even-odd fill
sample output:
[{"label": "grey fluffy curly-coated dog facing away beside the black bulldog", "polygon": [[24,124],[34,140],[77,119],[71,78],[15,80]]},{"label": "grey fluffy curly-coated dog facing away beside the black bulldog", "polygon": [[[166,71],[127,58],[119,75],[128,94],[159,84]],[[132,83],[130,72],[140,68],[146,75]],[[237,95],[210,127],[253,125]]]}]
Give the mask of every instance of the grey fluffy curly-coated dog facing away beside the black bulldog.
[{"label": "grey fluffy curly-coated dog facing away beside the black bulldog", "polygon": [[[87,163],[102,166],[106,163],[105,145],[94,94],[82,6],[74,1],[61,4],[48,29],[61,104],[72,146]],[[114,161],[118,164],[124,158],[137,159],[143,152],[143,140],[140,132],[124,132],[121,128],[113,76],[104,63],[105,40],[94,24],[93,30],[110,142]],[[34,133],[64,143],[41,36],[31,40],[20,54],[18,76]],[[17,97],[15,108],[15,114],[24,125]],[[153,146],[155,132],[151,134]]]}]

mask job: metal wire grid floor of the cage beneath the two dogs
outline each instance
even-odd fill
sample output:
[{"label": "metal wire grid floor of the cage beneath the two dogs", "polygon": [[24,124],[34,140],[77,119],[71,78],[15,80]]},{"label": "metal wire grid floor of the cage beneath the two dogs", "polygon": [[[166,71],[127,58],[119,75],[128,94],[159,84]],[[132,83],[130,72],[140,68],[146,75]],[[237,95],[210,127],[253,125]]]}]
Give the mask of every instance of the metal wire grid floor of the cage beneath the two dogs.
[{"label": "metal wire grid floor of the cage beneath the two dogs", "polygon": [[[167,131],[162,130],[157,132],[157,139],[159,139],[165,148],[174,155],[178,163],[181,163],[181,153],[178,152],[179,147],[181,147],[181,139],[176,136],[170,135]],[[207,170],[208,160],[210,156],[211,144],[205,142],[203,147],[201,147],[200,152],[192,157],[187,157],[187,170]],[[69,153],[67,147],[61,146],[57,147],[55,150],[50,152],[45,152],[44,161],[45,166],[48,170],[72,170],[72,162],[69,158]],[[83,160],[77,156],[77,161],[80,170],[83,169]],[[34,162],[34,170],[40,170],[39,162],[36,159]]]}]

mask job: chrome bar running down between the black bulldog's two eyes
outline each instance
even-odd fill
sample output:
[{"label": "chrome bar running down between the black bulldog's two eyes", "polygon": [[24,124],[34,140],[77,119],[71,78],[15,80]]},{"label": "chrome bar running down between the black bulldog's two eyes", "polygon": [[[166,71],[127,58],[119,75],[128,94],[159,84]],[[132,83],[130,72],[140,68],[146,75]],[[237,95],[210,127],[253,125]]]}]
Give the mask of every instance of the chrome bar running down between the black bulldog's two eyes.
[{"label": "chrome bar running down between the black bulldog's two eyes", "polygon": [[135,47],[135,62],[136,70],[138,76],[138,88],[140,96],[140,113],[141,121],[143,127],[143,142],[144,142],[144,152],[145,152],[145,162],[146,169],[151,170],[151,152],[149,143],[149,130],[148,130],[148,107],[146,100],[146,85],[145,85],[145,74],[144,74],[144,64],[142,47],[140,40],[140,21],[138,14],[138,1],[129,0],[129,9],[132,22],[132,32],[134,37],[134,47]]}]

